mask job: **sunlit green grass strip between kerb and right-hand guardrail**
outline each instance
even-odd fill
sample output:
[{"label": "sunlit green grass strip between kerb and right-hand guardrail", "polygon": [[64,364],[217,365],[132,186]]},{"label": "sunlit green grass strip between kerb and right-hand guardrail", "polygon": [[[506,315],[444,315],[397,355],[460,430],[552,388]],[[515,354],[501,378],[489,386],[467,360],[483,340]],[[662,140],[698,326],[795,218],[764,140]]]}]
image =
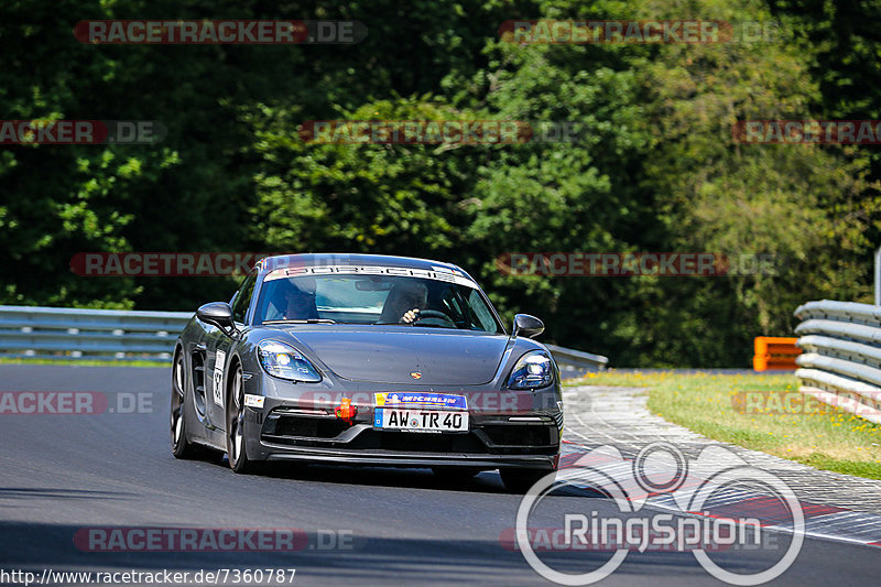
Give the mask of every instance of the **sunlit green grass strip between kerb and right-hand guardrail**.
[{"label": "sunlit green grass strip between kerb and right-hand guardrail", "polygon": [[611,370],[567,384],[648,388],[653,414],[709,438],[820,469],[881,479],[881,426],[825,404],[805,403],[791,373]]}]

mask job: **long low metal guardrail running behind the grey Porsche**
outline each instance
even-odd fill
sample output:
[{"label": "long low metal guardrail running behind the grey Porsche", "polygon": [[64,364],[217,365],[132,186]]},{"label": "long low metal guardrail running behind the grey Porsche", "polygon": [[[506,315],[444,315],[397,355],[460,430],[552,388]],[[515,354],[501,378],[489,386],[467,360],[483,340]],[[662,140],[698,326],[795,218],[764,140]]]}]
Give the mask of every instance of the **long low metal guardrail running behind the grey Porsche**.
[{"label": "long low metal guardrail running behind the grey Porsche", "polygon": [[[0,357],[171,361],[193,314],[0,306]],[[561,367],[596,371],[609,359],[547,345]]]}]

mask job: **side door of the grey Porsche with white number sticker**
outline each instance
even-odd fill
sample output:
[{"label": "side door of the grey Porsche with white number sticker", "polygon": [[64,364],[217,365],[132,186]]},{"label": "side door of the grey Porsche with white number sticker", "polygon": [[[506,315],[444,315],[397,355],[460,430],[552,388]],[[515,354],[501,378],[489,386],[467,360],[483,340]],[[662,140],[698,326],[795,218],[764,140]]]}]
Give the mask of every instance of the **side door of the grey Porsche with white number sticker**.
[{"label": "side door of the grey Porsche with white number sticker", "polygon": [[239,291],[232,298],[232,320],[236,323],[237,333],[230,336],[220,328],[208,326],[205,336],[206,346],[206,399],[207,414],[211,425],[226,430],[227,396],[229,362],[236,344],[246,328],[248,306],[251,294],[257,283],[257,271],[252,271],[242,281]]}]

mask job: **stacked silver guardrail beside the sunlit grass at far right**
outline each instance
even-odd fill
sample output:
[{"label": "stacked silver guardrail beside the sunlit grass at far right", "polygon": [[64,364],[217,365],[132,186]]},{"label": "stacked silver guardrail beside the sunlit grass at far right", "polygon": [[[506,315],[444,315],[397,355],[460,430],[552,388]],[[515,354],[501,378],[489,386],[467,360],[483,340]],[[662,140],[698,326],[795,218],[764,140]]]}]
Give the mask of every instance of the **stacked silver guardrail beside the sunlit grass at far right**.
[{"label": "stacked silver guardrail beside the sunlit grass at far right", "polygon": [[798,391],[881,424],[881,307],[824,300],[795,316]]}]

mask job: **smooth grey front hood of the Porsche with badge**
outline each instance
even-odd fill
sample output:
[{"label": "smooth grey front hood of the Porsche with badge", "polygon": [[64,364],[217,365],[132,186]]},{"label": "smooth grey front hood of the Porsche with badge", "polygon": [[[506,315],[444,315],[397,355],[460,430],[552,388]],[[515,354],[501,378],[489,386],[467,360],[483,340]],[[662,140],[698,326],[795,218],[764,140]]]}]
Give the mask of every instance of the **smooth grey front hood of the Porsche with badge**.
[{"label": "smooth grey front hood of the Porsche with badge", "polygon": [[[285,330],[304,352],[344,379],[411,385],[489,383],[510,341],[504,335],[438,328],[372,328]],[[420,373],[418,379],[411,373]]]}]

